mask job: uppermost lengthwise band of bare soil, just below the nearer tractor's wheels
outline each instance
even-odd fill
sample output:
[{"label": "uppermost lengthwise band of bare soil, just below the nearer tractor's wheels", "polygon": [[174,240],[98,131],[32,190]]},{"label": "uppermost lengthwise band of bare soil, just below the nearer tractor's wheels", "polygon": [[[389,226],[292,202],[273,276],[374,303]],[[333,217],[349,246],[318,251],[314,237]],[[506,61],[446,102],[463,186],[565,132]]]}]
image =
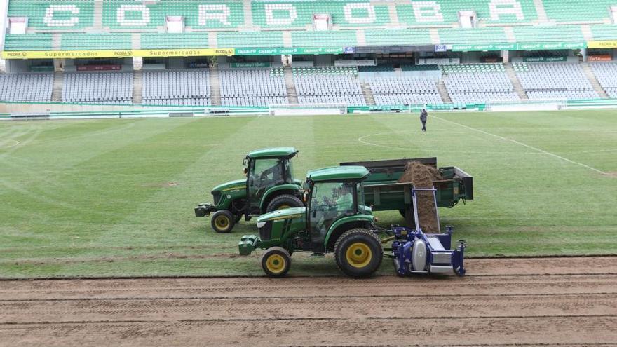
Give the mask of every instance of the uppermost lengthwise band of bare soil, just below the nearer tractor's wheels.
[{"label": "uppermost lengthwise band of bare soil, just below the nearer tractor's wheels", "polygon": [[4,299],[372,297],[617,293],[617,275],[348,278],[189,278],[0,282]]}]

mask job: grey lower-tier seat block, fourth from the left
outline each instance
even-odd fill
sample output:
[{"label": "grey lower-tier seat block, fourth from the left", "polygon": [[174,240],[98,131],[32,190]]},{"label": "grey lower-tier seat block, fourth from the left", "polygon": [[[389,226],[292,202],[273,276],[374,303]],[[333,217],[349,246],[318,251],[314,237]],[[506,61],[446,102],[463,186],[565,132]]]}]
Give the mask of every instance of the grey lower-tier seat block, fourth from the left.
[{"label": "grey lower-tier seat block, fourth from the left", "polygon": [[279,69],[226,69],[220,71],[222,106],[288,104],[285,77]]}]

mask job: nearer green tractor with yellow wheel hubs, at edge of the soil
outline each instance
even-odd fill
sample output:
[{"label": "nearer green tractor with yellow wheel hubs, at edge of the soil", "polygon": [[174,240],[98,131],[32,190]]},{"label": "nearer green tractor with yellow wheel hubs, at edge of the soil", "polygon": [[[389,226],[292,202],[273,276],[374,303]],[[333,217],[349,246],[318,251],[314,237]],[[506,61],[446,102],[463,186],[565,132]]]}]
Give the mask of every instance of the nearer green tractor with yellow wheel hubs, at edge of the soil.
[{"label": "nearer green tractor with yellow wheel hubs, at edge of the soil", "polygon": [[339,269],[354,278],[372,275],[384,254],[374,217],[365,206],[362,182],[369,171],[362,166],[339,166],[309,171],[306,207],[267,213],[257,219],[259,236],[245,235],[241,255],[265,250],[262,268],[271,277],[287,273],[294,252],[320,257],[334,253]]}]

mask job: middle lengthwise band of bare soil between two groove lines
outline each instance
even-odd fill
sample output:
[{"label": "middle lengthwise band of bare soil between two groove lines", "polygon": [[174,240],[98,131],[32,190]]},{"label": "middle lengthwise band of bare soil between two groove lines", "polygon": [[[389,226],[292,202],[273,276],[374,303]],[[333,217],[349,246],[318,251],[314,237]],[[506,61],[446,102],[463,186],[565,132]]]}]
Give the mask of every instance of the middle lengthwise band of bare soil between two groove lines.
[{"label": "middle lengthwise band of bare soil between two groove lines", "polygon": [[[402,309],[406,304],[413,309]],[[585,316],[617,315],[617,295],[5,301],[0,303],[0,312],[0,325],[84,320]]]}]

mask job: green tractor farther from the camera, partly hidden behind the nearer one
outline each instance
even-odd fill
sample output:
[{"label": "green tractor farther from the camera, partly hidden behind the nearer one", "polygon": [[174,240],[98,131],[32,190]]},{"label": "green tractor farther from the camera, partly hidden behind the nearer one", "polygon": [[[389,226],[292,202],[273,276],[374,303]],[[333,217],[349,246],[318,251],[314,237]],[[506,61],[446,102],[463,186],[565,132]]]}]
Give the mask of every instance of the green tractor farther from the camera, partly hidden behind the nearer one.
[{"label": "green tractor farther from the camera, partly hidden behind the nearer one", "polygon": [[243,162],[246,178],[215,186],[214,203],[195,207],[195,216],[214,212],[212,229],[229,233],[243,216],[248,221],[266,212],[304,206],[301,182],[293,177],[292,158],[297,154],[293,147],[249,152]]}]

